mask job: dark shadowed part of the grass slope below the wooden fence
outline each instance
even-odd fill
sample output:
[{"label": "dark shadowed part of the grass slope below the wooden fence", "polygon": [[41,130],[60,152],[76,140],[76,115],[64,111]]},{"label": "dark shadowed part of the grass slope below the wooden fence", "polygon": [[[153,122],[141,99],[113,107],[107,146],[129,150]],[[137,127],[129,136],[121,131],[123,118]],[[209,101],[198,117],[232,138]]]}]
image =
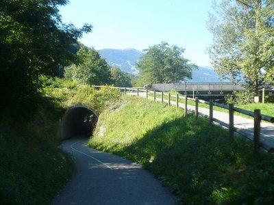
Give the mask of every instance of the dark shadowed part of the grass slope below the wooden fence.
[{"label": "dark shadowed part of the grass slope below the wooden fence", "polygon": [[116,154],[162,176],[184,204],[274,200],[273,156],[262,153],[255,163],[249,141],[232,141],[221,126],[192,114],[154,128]]}]

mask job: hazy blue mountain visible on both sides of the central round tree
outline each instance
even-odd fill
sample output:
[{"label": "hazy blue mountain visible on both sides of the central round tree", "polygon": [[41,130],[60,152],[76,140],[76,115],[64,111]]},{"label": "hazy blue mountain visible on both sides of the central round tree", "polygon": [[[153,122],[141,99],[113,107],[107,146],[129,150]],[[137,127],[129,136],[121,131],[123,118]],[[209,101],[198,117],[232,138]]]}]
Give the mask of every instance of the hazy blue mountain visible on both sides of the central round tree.
[{"label": "hazy blue mountain visible on both sides of the central round tree", "polygon": [[[128,73],[138,74],[135,65],[138,59],[143,55],[142,51],[136,49],[102,49],[99,53],[110,65],[119,66],[121,70]],[[199,66],[199,69],[193,70],[192,80],[188,82],[219,82],[219,79],[212,68]]]}]

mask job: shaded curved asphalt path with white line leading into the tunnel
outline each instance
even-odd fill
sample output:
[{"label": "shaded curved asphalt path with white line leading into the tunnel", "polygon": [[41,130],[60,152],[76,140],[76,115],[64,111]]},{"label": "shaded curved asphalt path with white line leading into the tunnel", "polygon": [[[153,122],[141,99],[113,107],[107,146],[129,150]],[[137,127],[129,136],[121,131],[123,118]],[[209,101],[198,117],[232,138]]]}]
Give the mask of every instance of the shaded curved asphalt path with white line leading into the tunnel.
[{"label": "shaded curved asphalt path with white line leading into the tunnel", "polygon": [[176,197],[140,165],[87,143],[88,138],[62,143],[75,157],[76,171],[52,204],[176,204]]}]

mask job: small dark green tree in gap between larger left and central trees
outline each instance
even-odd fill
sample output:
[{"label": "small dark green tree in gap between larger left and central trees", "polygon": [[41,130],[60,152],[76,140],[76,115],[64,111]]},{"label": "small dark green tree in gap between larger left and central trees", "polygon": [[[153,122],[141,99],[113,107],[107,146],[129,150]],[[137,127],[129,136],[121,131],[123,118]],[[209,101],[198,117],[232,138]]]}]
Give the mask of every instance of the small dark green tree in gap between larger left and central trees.
[{"label": "small dark green tree in gap between larger left and central trees", "polygon": [[118,67],[113,67],[110,70],[112,83],[116,87],[132,87],[132,76],[127,72],[123,72]]}]

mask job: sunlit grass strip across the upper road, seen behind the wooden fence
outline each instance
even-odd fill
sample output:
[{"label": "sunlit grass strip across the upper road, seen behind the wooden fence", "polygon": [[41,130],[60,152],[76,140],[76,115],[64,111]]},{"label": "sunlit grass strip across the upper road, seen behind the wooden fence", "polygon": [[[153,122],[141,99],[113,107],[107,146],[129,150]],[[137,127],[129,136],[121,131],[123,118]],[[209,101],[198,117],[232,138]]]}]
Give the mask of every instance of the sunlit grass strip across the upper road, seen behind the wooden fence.
[{"label": "sunlit grass strip across the upper road, seen behind the wooden fence", "polygon": [[[171,91],[171,95],[176,95],[176,94],[179,94],[179,93],[175,92],[175,91]],[[149,96],[153,97],[153,93],[149,93]],[[184,95],[179,94],[179,96],[184,96]],[[156,98],[161,98],[161,94],[156,94]],[[168,96],[164,95],[164,99],[167,100]],[[171,100],[176,101],[176,98],[171,97]],[[179,102],[184,103],[184,99],[179,98]],[[194,100],[188,100],[188,105],[195,106],[195,101]],[[205,108],[208,108],[208,109],[210,108],[209,105],[206,105],[206,104],[203,104],[203,103],[199,103],[199,107],[205,107]],[[262,114],[269,115],[269,116],[274,116],[274,109],[273,109],[274,108],[274,103],[264,103],[263,104],[263,103],[259,102],[259,103],[251,103],[251,104],[248,104],[248,105],[235,105],[235,107],[238,107],[238,108],[241,108],[241,109],[246,109],[246,110],[249,110],[249,111],[254,111],[254,109],[261,109]],[[222,111],[222,112],[228,113],[228,109],[223,109],[221,107],[214,106],[213,109],[216,110],[216,111]],[[248,115],[243,115],[243,114],[238,113],[238,112],[234,112],[234,113],[236,115],[240,115],[240,116],[245,117],[245,118],[251,118]]]}]

